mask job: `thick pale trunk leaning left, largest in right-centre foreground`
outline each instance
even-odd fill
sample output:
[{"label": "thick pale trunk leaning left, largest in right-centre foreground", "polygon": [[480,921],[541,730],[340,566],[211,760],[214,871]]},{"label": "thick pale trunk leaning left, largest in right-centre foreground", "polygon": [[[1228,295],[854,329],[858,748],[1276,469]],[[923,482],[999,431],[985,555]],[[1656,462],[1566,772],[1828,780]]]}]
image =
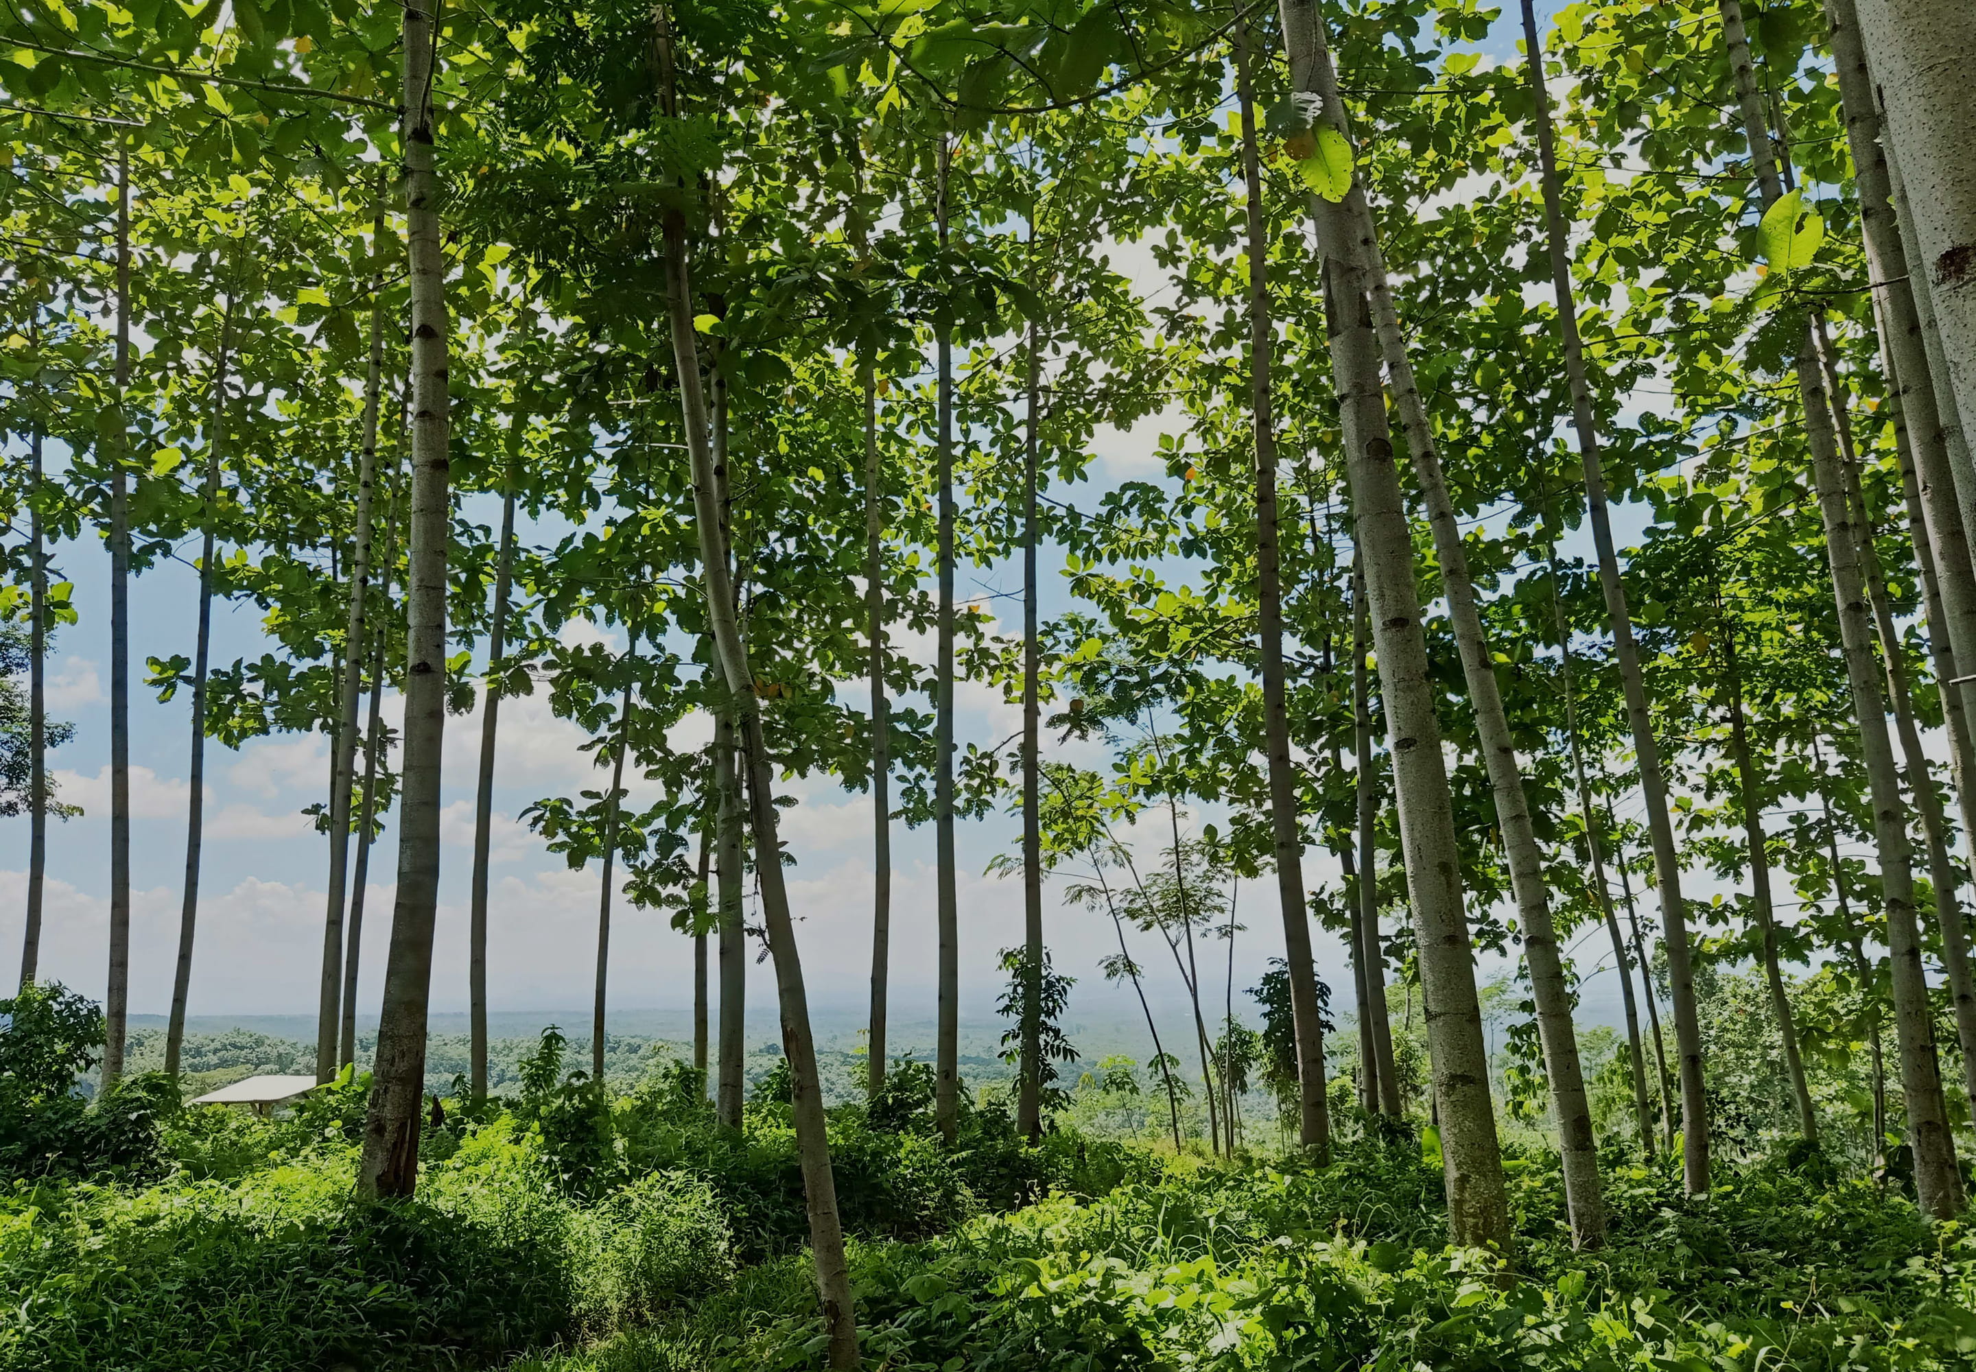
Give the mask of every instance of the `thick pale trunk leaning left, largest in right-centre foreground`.
[{"label": "thick pale trunk leaning left, largest in right-centre foreground", "polygon": [[[1282,0],[1282,24],[1292,87],[1316,97],[1318,123],[1350,146],[1350,121],[1314,0]],[[1354,190],[1359,196],[1356,204],[1363,204],[1356,178]],[[1490,1099],[1474,949],[1462,907],[1454,807],[1441,755],[1435,686],[1427,670],[1413,530],[1385,421],[1379,340],[1367,300],[1373,263],[1363,245],[1365,215],[1350,210],[1350,194],[1348,206],[1316,196],[1310,200],[1324,255],[1332,378],[1340,399],[1354,526],[1371,601],[1421,985],[1433,1006],[1427,1034],[1448,1188],[1448,1232],[1456,1243],[1502,1247],[1510,1242],[1510,1206]]]}]

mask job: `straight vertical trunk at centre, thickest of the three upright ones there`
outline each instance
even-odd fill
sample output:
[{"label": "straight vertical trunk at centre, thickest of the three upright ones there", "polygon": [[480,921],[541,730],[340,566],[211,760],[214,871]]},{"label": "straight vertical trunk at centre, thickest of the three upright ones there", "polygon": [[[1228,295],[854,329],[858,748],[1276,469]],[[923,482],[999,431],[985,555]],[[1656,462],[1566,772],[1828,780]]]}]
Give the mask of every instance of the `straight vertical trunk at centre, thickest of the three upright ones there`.
[{"label": "straight vertical trunk at centre, thickest of the three upright ones there", "polygon": [[[941,132],[935,166],[933,217],[941,255],[947,255],[952,144]],[[933,834],[939,917],[939,1024],[935,1028],[933,1117],[941,1139],[954,1141],[960,1127],[960,896],[954,868],[954,344],[943,308],[935,320],[939,366],[939,583],[937,666],[933,674]]]}]

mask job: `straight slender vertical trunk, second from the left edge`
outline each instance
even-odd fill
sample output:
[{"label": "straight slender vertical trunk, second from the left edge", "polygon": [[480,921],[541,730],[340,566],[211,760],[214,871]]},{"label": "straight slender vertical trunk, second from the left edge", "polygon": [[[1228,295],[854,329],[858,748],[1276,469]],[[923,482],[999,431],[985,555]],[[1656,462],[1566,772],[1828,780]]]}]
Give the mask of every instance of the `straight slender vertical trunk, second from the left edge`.
[{"label": "straight slender vertical trunk, second from the left edge", "polygon": [[117,146],[117,405],[111,453],[111,965],[103,996],[103,1089],[123,1075],[130,1008],[130,144]]}]

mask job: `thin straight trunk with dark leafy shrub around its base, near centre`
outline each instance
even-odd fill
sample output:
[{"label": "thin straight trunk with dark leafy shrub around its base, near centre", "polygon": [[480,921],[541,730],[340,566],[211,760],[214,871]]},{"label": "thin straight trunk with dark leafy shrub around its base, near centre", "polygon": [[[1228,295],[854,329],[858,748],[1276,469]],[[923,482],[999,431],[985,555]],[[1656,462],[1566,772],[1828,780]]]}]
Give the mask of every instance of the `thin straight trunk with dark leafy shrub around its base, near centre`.
[{"label": "thin straight trunk with dark leafy shrub around its base, near centre", "polygon": [[[1035,225],[1029,225],[1029,239]],[[1028,433],[1022,451],[1022,1083],[1016,1131],[1043,1137],[1043,820],[1041,708],[1037,674],[1035,465],[1039,366],[1035,320],[1029,320]]]}]

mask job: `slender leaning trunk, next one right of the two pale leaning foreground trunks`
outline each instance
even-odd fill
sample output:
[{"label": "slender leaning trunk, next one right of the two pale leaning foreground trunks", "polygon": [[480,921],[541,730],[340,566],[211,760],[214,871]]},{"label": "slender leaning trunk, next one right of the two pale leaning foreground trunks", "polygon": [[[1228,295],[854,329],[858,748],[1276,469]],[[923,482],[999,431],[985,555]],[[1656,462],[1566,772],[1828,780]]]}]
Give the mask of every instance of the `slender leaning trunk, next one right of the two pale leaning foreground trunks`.
[{"label": "slender leaning trunk, next one right of the two pale leaning foreground trunks", "polygon": [[1543,89],[1543,43],[1537,36],[1537,20],[1529,0],[1523,0],[1523,36],[1529,45],[1529,91],[1535,103],[1537,156],[1543,164],[1543,212],[1551,257],[1551,289],[1557,295],[1557,332],[1563,342],[1565,374],[1571,384],[1571,423],[1579,435],[1579,459],[1585,469],[1585,508],[1591,516],[1593,544],[1599,550],[1599,583],[1605,589],[1606,617],[1612,621],[1612,650],[1618,658],[1620,684],[1626,692],[1626,722],[1632,728],[1632,749],[1640,765],[1640,793],[1646,799],[1646,832],[1654,848],[1654,888],[1660,892],[1660,927],[1668,949],[1668,986],[1674,992],[1674,1040],[1682,1072],[1682,1180],[1689,1196],[1705,1196],[1709,1190],[1709,1115],[1707,1087],[1701,1072],[1701,1020],[1695,1014],[1695,981],[1688,947],[1688,909],[1682,901],[1682,858],[1674,842],[1674,822],[1668,816],[1668,777],[1662,771],[1660,743],[1654,739],[1654,716],[1646,700],[1640,648],[1632,639],[1626,583],[1620,579],[1618,550],[1612,544],[1612,520],[1606,512],[1605,467],[1599,459],[1599,417],[1593,409],[1585,348],[1579,342],[1577,300],[1571,287],[1571,247],[1563,192],[1557,182],[1549,95]]}]

